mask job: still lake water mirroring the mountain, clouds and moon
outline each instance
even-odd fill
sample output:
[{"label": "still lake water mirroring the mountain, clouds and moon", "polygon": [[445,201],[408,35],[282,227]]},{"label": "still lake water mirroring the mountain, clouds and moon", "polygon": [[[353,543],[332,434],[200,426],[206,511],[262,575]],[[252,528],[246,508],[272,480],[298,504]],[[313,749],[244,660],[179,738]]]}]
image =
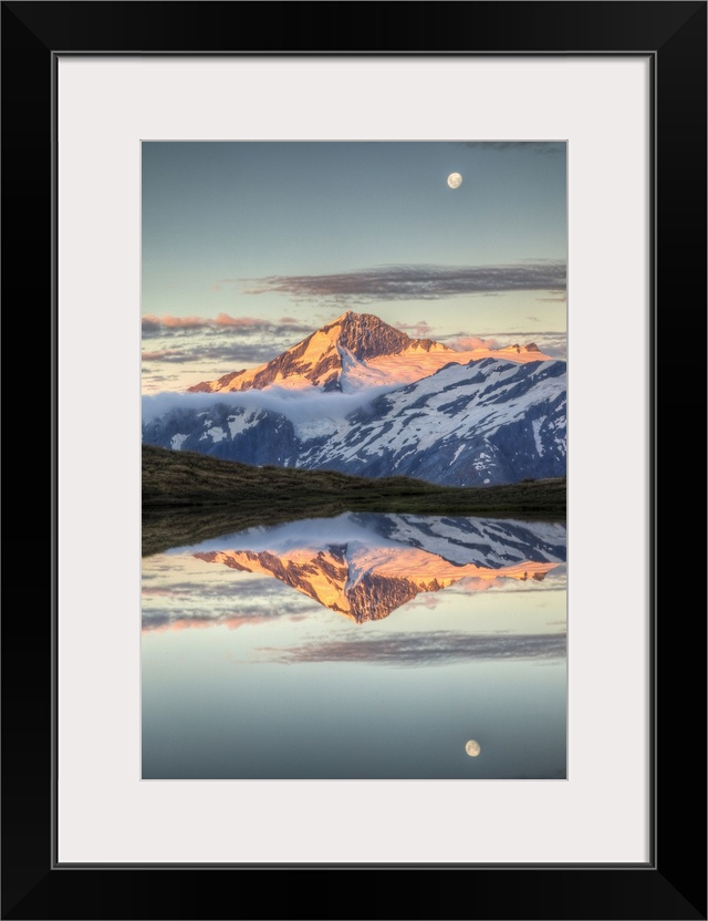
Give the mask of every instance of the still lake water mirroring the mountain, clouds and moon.
[{"label": "still lake water mirroring the mountain, clouds and moon", "polygon": [[145,558],[143,778],[564,778],[565,549],[348,514]]}]

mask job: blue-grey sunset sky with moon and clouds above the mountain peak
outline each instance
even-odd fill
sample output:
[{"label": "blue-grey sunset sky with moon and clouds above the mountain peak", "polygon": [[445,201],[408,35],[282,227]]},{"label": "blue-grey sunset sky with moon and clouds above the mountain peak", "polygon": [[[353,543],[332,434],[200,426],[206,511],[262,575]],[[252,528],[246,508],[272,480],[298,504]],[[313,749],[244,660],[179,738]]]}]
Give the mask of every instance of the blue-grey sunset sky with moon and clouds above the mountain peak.
[{"label": "blue-grey sunset sky with moon and clouds above the mountain peak", "polygon": [[564,143],[143,143],[145,393],[262,364],[345,310],[565,358],[565,276]]}]

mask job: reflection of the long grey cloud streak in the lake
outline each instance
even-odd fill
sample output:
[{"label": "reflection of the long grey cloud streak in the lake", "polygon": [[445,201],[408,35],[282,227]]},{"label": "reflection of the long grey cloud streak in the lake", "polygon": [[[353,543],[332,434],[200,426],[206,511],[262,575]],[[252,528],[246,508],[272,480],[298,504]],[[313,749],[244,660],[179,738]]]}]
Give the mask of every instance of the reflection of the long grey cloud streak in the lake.
[{"label": "reflection of the long grey cloud streak in the lake", "polygon": [[565,633],[468,634],[452,631],[400,633],[382,639],[333,640],[294,649],[263,648],[284,664],[366,662],[374,665],[446,665],[470,660],[550,660],[565,655]]}]

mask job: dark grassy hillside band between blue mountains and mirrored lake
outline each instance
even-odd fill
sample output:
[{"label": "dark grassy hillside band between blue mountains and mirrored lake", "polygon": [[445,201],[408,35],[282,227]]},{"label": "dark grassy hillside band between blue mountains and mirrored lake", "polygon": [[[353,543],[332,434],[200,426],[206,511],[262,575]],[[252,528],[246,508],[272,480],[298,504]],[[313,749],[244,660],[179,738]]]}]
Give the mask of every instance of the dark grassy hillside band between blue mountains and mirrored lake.
[{"label": "dark grassy hillside band between blue mountains and mirrored lake", "polygon": [[477,488],[251,467],[143,445],[143,555],[254,525],[344,511],[565,519],[565,478]]}]

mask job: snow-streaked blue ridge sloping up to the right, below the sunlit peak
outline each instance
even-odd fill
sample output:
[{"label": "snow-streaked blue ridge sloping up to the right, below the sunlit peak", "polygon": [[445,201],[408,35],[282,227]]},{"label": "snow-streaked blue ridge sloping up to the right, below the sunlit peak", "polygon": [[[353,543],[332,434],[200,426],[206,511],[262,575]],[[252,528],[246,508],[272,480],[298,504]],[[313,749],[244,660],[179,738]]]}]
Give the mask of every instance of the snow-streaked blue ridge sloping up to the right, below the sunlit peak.
[{"label": "snow-streaked blue ridge sloping up to the right, below the sunlit peak", "polygon": [[296,465],[459,486],[562,476],[565,391],[564,362],[448,365],[302,442]]}]

